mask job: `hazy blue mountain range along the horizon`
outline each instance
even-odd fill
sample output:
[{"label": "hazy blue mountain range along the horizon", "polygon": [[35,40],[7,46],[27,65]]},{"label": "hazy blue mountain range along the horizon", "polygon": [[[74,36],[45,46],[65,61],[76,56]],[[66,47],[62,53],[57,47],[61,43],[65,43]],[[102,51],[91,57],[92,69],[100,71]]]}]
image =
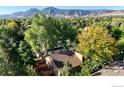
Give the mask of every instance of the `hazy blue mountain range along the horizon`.
[{"label": "hazy blue mountain range along the horizon", "polygon": [[124,15],[123,10],[81,10],[81,9],[58,9],[55,7],[46,7],[42,10],[31,8],[24,12],[15,12],[9,15],[0,15],[0,18],[27,18],[31,17],[34,14],[45,14],[50,16],[73,16],[73,17],[81,17],[81,16],[92,16],[92,15],[109,15],[109,14],[117,14],[120,13]]}]

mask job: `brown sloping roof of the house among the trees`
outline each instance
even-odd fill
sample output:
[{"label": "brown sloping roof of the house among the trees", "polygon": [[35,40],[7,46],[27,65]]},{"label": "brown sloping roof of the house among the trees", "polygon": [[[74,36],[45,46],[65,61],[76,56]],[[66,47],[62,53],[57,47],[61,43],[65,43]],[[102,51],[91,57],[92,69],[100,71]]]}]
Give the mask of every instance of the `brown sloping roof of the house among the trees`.
[{"label": "brown sloping roof of the house among the trees", "polygon": [[72,67],[77,67],[82,63],[82,61],[76,56],[74,52],[58,53],[52,54],[50,56],[58,68],[62,68],[68,61],[71,63]]}]

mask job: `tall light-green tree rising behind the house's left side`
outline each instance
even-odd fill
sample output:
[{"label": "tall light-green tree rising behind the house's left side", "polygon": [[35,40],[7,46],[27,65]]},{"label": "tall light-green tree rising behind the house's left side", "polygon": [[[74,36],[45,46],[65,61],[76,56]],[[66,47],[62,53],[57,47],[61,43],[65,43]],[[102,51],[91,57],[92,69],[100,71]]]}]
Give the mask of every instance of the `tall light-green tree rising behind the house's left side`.
[{"label": "tall light-green tree rising behind the house's left side", "polygon": [[29,42],[35,53],[42,49],[57,46],[59,31],[56,28],[56,20],[51,17],[38,15],[32,21],[32,27],[25,33],[25,40]]}]

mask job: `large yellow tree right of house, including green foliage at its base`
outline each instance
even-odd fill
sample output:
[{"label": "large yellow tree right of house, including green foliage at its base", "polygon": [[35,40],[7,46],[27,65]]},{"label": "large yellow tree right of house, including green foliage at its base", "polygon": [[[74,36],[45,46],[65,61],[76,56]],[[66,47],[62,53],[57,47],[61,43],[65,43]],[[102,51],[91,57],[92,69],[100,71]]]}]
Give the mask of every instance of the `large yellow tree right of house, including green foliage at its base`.
[{"label": "large yellow tree right of house, including green foliage at its base", "polygon": [[116,40],[100,26],[90,26],[78,34],[77,51],[83,55],[82,69],[79,75],[91,75],[107,65],[116,53]]}]

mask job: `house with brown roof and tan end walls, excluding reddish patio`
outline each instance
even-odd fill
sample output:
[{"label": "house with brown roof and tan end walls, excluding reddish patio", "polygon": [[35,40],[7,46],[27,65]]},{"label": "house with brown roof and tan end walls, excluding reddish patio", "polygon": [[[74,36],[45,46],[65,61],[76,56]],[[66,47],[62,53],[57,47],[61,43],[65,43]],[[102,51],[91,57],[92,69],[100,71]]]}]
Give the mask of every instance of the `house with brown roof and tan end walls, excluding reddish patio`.
[{"label": "house with brown roof and tan end walls, excluding reddish patio", "polygon": [[72,69],[79,70],[82,64],[82,55],[77,52],[60,52],[46,56],[46,63],[57,76],[60,76],[60,69],[67,62],[70,62]]}]

